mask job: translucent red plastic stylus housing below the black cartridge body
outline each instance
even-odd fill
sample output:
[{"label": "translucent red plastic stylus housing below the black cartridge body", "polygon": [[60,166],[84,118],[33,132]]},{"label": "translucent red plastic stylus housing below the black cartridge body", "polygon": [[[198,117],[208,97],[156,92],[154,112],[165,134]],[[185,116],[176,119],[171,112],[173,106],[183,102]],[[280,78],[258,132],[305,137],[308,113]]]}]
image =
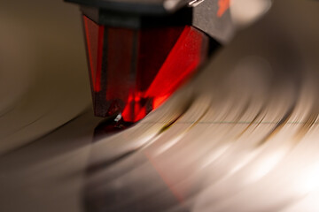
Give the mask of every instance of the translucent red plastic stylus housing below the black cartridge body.
[{"label": "translucent red plastic stylus housing below the black cartridge body", "polygon": [[167,100],[205,61],[197,29],[98,26],[83,16],[95,115],[136,122]]}]

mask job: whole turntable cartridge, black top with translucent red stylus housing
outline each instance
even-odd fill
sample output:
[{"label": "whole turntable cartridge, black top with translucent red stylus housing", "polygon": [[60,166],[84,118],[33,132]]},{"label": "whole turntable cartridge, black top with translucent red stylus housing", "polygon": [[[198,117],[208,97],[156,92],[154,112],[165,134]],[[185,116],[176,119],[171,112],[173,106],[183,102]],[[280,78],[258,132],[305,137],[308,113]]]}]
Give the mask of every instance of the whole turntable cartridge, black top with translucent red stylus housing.
[{"label": "whole turntable cartridge, black top with translucent red stylus housing", "polygon": [[95,115],[135,123],[234,32],[230,0],[66,0],[80,4]]}]

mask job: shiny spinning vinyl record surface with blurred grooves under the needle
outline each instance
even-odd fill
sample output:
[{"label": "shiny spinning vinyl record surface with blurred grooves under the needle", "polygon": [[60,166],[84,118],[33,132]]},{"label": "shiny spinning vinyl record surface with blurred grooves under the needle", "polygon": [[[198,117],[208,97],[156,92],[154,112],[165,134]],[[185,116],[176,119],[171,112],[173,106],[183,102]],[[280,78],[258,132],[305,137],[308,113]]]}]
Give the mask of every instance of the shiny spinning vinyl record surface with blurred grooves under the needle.
[{"label": "shiny spinning vinyl record surface with blurred grooves under the needle", "polygon": [[2,140],[1,210],[319,210],[317,11],[277,2],[125,130],[79,98],[66,125],[12,148]]}]

